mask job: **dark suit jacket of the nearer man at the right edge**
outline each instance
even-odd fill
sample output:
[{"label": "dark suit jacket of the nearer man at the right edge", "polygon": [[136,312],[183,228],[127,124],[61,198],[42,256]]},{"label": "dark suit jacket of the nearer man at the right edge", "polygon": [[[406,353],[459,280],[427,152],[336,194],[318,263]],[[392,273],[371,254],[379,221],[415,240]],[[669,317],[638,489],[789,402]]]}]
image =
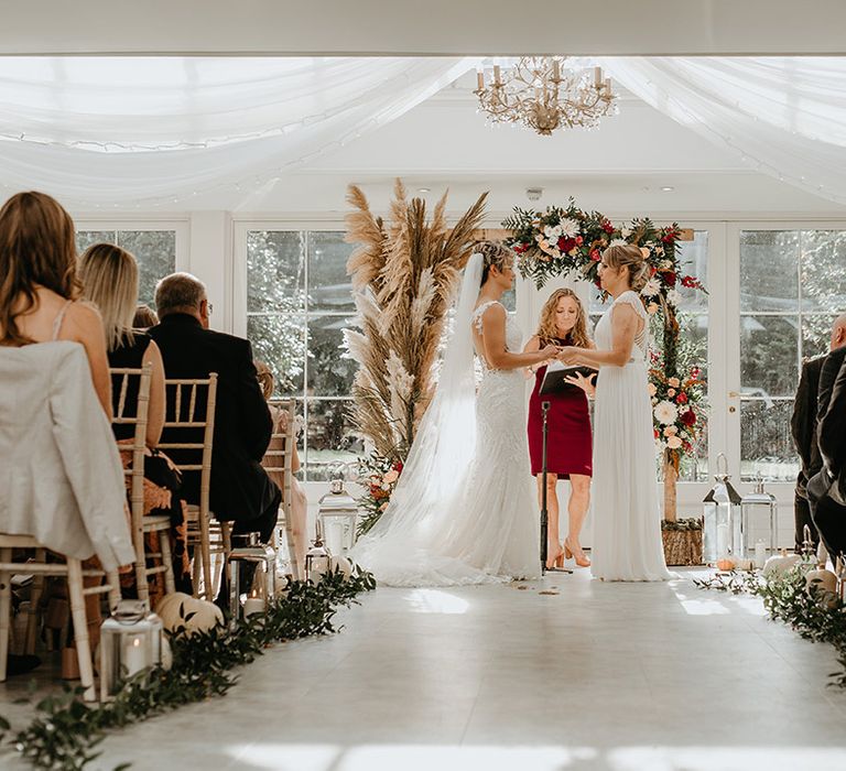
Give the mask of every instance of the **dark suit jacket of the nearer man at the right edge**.
[{"label": "dark suit jacket of the nearer man at the right edge", "polygon": [[[823,360],[820,370],[820,387],[817,390],[816,438],[820,449],[821,468],[807,482],[807,497],[812,502],[824,498],[832,484],[837,479],[843,467],[843,455],[846,449],[844,431],[846,430],[846,384],[840,382],[843,363],[846,360],[846,346],[833,350]],[[825,428],[823,427],[825,425]]]}]

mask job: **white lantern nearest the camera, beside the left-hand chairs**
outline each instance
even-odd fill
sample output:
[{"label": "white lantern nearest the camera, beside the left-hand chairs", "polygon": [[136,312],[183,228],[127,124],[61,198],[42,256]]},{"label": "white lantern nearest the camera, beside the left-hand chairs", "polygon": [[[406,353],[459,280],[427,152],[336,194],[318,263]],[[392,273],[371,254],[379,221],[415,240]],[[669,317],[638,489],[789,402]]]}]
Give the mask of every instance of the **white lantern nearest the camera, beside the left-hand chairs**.
[{"label": "white lantern nearest the camera, beside the left-hand chairs", "polygon": [[162,663],[162,620],[143,600],[122,599],[100,627],[100,698],[115,696],[126,680]]}]

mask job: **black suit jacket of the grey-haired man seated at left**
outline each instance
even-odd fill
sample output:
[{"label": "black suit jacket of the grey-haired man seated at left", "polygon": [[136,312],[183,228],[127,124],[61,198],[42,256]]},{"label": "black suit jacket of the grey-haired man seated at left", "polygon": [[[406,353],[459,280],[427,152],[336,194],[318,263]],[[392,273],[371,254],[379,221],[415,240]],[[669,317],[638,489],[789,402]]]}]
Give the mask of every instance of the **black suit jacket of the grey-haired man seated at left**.
[{"label": "black suit jacket of the grey-haired man seated at left", "polygon": [[[165,316],[149,334],[162,351],[165,377],[206,378],[217,372],[212,510],[220,520],[259,517],[276,495],[275,485],[260,463],[273,425],[256,379],[249,341],[204,329],[196,318],[181,313]],[[170,392],[167,399],[172,409]],[[166,430],[162,437],[162,442],[184,441],[184,433],[169,436]],[[178,459],[177,450],[169,452]],[[187,500],[197,502],[198,474],[185,475],[183,491]]]}]

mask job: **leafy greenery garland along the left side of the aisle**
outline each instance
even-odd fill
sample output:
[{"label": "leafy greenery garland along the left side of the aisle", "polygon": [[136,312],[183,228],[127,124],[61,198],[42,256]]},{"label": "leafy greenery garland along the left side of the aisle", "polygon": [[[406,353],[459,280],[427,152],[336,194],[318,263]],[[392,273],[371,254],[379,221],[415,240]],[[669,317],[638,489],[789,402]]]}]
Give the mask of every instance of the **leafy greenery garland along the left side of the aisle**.
[{"label": "leafy greenery garland along the left side of the aisle", "polygon": [[34,768],[84,769],[99,757],[108,730],[226,694],[238,682],[229,670],[250,663],[274,642],[339,631],[333,623],[337,607],[357,602],[358,594],[375,587],[372,574],[359,567],[349,578],[335,571],[317,584],[293,582],[267,613],[250,616],[231,631],[218,626],[188,637],[177,630],[171,638],[170,670],[140,672],[115,701],[90,706],[82,699],[82,687],[65,685],[36,704],[37,716],[21,730],[14,731],[0,716],[0,746],[12,745]]}]

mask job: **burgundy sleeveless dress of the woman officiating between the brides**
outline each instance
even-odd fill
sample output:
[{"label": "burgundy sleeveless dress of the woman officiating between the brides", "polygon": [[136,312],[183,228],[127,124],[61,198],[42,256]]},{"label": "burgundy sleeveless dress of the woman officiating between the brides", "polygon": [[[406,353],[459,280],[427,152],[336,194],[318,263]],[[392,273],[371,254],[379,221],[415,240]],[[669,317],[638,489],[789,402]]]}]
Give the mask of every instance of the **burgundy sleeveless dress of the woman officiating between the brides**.
[{"label": "burgundy sleeveless dress of the woman officiating between the brides", "polygon": [[[556,338],[554,345],[573,345],[570,339]],[[542,340],[541,345],[545,345]],[[543,470],[543,412],[541,402],[550,402],[546,414],[546,470],[560,479],[568,479],[571,474],[593,474],[593,439],[590,436],[590,413],[587,395],[581,388],[570,388],[563,393],[540,395],[546,365],[534,374],[534,389],[529,399],[529,456],[532,476]]]}]

